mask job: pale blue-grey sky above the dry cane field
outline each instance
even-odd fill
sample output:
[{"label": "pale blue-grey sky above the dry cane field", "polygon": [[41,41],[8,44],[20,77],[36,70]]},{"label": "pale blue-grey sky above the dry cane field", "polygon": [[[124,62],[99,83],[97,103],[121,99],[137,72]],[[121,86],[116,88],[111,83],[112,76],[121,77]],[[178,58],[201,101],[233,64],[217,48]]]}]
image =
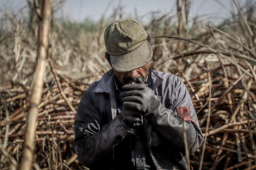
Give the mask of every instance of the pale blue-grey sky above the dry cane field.
[{"label": "pale blue-grey sky above the dry cane field", "polygon": [[[244,2],[238,0],[240,5]],[[124,18],[133,18],[135,8],[139,17],[151,11],[176,14],[176,0],[65,0],[65,4],[56,14],[73,21],[83,21],[86,17],[97,21],[102,15],[110,16],[119,3],[124,7]],[[0,15],[5,10],[17,11],[23,6],[26,6],[26,0],[0,0]],[[230,11],[237,12],[233,0],[191,0],[189,16],[214,22],[230,16]]]}]

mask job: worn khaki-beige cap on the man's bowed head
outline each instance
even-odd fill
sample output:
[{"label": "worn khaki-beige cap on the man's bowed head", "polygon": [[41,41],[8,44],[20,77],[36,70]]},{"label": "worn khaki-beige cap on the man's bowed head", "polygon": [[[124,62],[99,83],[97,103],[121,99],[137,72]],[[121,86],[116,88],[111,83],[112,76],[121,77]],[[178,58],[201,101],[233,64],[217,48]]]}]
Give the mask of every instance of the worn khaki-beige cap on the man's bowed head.
[{"label": "worn khaki-beige cap on the man's bowed head", "polygon": [[113,69],[129,72],[147,64],[153,56],[143,26],[134,19],[121,19],[105,30],[104,40]]}]

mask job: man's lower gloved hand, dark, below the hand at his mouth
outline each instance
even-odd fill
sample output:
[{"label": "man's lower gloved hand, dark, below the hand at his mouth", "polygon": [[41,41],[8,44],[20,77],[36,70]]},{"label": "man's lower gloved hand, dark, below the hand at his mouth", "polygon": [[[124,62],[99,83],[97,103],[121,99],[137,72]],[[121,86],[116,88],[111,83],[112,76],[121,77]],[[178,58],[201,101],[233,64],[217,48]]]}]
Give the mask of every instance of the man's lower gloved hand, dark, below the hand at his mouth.
[{"label": "man's lower gloved hand, dark, below the hand at his mouth", "polygon": [[121,111],[121,118],[124,120],[124,123],[129,126],[129,128],[134,128],[135,125],[142,124],[141,114],[134,109],[127,106],[123,106]]}]

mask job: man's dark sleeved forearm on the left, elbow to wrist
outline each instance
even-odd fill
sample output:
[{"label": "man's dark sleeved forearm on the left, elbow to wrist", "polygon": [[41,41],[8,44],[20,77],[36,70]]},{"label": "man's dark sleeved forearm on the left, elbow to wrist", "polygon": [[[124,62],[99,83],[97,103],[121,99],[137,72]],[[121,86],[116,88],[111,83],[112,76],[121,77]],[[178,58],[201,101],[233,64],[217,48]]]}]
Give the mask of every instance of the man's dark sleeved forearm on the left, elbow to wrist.
[{"label": "man's dark sleeved forearm on the left, elbow to wrist", "polygon": [[[79,128],[75,129],[79,131]],[[102,130],[86,137],[78,137],[74,141],[74,148],[78,160],[89,166],[101,158],[112,154],[112,147],[121,142],[129,134],[124,128],[122,120],[117,117],[102,127]]]}]

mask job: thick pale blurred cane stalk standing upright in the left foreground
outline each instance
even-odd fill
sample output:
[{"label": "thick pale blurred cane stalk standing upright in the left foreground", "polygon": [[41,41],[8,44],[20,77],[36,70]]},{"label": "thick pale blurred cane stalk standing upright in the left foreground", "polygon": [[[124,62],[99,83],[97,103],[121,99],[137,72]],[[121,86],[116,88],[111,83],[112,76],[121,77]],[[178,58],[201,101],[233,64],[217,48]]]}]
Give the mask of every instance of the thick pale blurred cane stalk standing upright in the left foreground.
[{"label": "thick pale blurred cane stalk standing upright in the left foreground", "polygon": [[43,1],[41,21],[38,31],[38,52],[36,72],[33,75],[33,81],[30,91],[30,103],[28,109],[28,118],[25,132],[25,141],[23,143],[23,152],[21,158],[21,166],[19,169],[31,169],[33,162],[34,138],[36,132],[36,120],[38,116],[38,106],[41,102],[43,91],[43,78],[46,69],[47,48],[48,48],[48,33],[50,28],[52,0]]}]

